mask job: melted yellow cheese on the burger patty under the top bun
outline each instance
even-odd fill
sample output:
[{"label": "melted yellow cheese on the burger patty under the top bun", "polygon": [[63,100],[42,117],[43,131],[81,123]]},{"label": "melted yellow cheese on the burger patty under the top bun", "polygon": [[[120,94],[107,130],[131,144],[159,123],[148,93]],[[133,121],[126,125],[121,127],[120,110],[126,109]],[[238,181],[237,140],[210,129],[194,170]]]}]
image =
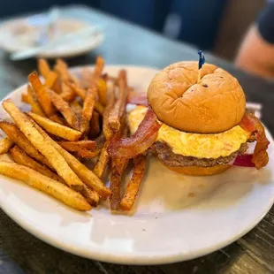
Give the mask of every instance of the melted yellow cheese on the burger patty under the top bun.
[{"label": "melted yellow cheese on the burger patty under the top bun", "polygon": [[[146,115],[147,108],[137,106],[128,115],[128,124],[133,134]],[[249,133],[240,126],[234,126],[225,133],[198,134],[184,133],[171,126],[162,124],[157,141],[166,142],[175,154],[197,158],[230,156],[249,138]]]}]

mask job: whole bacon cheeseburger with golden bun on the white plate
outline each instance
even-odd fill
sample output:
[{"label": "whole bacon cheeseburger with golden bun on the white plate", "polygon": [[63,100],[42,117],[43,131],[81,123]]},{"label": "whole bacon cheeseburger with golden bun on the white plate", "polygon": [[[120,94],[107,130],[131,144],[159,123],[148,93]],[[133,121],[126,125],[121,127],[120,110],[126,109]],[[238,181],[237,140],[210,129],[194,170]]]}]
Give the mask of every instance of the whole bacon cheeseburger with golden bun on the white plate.
[{"label": "whole bacon cheeseburger with golden bun on the white plate", "polygon": [[226,171],[257,141],[251,164],[265,166],[269,141],[261,122],[246,111],[239,81],[211,64],[202,66],[200,80],[198,73],[197,62],[156,73],[148,106],[128,115],[132,136],[112,143],[112,153],[133,157],[150,151],[171,171],[204,176]]}]

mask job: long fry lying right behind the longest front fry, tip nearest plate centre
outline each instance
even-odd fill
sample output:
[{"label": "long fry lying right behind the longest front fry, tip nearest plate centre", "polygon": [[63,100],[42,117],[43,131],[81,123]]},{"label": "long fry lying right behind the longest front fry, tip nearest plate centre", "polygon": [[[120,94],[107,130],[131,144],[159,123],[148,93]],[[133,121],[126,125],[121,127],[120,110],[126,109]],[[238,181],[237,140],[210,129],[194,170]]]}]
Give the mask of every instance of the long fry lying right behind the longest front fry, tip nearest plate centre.
[{"label": "long fry lying right behind the longest front fry, tip nearest plate centre", "polygon": [[87,186],[94,189],[100,196],[104,198],[110,196],[110,189],[103,185],[102,180],[98,179],[94,172],[90,171],[86,165],[80,163],[79,160],[77,160],[64,148],[59,146],[57,142],[53,141],[40,126],[34,125],[34,127],[39,131],[39,133],[42,134],[45,140],[49,141],[50,144],[57,149],[57,151],[65,158],[66,163],[69,164],[69,166],[72,168],[72,171],[74,171]]}]

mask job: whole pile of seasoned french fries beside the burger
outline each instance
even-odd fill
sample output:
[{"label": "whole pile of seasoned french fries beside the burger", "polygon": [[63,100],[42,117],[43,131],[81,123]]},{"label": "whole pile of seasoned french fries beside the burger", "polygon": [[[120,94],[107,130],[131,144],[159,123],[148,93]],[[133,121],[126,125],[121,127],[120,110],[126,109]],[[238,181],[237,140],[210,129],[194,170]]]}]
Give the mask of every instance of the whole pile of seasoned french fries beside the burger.
[{"label": "whole pile of seasoned french fries beside the burger", "polygon": [[[124,194],[121,185],[131,159],[110,158],[113,139],[126,138],[126,71],[118,77],[103,73],[104,60],[98,57],[95,69],[83,68],[72,74],[63,60],[51,69],[38,61],[37,72],[28,76],[22,101],[30,105],[22,112],[11,102],[3,102],[12,122],[0,121],[6,134],[0,154],[13,160],[0,161],[0,174],[19,179],[49,194],[73,209],[90,210],[110,199],[111,211],[131,210],[139,192],[146,156],[133,159],[133,175]],[[94,161],[90,170],[83,160]],[[110,167],[109,169],[107,167]],[[110,186],[102,178],[110,170]]]}]

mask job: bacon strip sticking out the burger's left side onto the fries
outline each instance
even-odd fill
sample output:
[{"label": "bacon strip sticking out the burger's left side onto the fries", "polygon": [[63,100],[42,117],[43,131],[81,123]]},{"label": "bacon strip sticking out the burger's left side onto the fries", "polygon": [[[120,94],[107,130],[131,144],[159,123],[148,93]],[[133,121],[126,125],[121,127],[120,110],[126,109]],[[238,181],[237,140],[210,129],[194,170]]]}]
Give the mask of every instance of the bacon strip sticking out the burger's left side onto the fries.
[{"label": "bacon strip sticking out the burger's left side onto the fries", "polygon": [[114,139],[108,148],[111,157],[133,158],[144,153],[156,141],[161,125],[156,114],[149,108],[137,131],[130,138]]}]

